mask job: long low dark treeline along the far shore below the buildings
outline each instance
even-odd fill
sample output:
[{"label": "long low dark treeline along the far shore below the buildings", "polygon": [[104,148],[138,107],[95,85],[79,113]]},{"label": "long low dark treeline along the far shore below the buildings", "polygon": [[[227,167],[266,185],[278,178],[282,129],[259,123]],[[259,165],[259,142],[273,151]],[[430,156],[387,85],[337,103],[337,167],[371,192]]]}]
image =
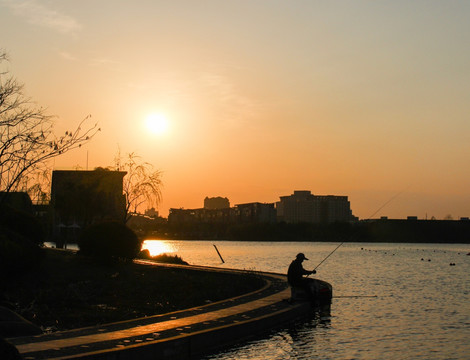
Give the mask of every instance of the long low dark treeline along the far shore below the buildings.
[{"label": "long low dark treeline along the far shore below the buildings", "polygon": [[[147,232],[148,233],[148,232]],[[470,221],[377,220],[333,224],[161,224],[174,240],[470,243]]]}]

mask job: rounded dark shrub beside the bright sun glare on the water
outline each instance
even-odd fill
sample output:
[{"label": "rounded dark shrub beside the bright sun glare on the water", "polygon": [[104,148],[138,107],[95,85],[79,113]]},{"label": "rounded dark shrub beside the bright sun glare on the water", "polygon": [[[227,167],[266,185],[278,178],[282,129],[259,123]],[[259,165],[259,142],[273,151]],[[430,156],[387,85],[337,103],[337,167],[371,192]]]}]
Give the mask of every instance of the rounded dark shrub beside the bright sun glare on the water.
[{"label": "rounded dark shrub beside the bright sun glare on the water", "polygon": [[91,225],[78,240],[80,254],[93,258],[132,260],[142,241],[125,224],[109,221]]}]

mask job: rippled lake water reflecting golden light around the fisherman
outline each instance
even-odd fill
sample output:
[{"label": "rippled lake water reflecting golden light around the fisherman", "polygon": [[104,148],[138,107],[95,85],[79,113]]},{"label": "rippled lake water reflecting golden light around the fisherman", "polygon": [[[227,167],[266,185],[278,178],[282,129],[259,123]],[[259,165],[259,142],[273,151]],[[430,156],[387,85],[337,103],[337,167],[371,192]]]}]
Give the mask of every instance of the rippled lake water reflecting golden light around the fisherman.
[{"label": "rippled lake water reflecting golden light around the fisherman", "polygon": [[[158,244],[192,265],[279,273],[286,272],[300,251],[310,259],[305,268],[311,269],[338,246]],[[470,359],[469,251],[469,245],[344,244],[317,269],[316,276],[330,282],[337,297],[330,316],[277,330],[205,359]],[[353,295],[376,297],[349,297]]]}]

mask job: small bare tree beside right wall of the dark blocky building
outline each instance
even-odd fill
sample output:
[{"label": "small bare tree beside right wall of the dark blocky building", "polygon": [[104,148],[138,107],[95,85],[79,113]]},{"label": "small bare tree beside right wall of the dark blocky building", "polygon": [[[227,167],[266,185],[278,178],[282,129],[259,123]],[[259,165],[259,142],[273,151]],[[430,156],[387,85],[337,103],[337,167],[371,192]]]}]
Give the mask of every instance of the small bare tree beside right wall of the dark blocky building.
[{"label": "small bare tree beside right wall of the dark blocky building", "polygon": [[123,181],[123,191],[126,196],[125,221],[127,222],[131,213],[136,213],[143,204],[148,208],[157,207],[162,198],[162,172],[154,170],[152,164],[142,162],[135,153],[127,154],[123,161],[118,151],[114,161],[117,170],[127,172]]}]

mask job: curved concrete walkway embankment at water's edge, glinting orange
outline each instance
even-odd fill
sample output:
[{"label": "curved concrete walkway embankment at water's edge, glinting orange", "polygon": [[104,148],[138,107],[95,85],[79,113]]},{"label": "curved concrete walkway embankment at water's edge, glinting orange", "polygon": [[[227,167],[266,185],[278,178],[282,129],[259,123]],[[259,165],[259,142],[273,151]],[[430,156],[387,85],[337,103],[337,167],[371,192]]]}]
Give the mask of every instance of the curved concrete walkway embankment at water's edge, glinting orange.
[{"label": "curved concrete walkway embankment at water's edge, glinting orange", "polygon": [[287,301],[290,290],[284,275],[258,274],[265,280],[263,288],[224,301],[169,314],[8,341],[25,359],[189,359],[311,313],[309,303]]}]

